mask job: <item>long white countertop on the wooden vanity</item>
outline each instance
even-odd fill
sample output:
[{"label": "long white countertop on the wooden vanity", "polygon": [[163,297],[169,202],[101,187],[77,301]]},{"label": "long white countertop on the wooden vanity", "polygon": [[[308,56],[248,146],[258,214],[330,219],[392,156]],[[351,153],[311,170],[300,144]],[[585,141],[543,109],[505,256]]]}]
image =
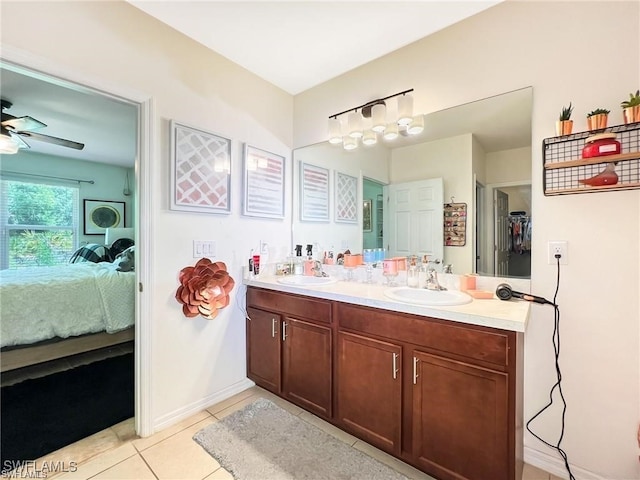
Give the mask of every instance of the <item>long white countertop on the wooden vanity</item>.
[{"label": "long white countertop on the wooden vanity", "polygon": [[281,277],[261,273],[257,277],[246,278],[244,284],[280,292],[515,332],[524,332],[526,330],[531,309],[530,302],[524,300],[503,301],[499,300],[495,295],[492,299],[473,299],[471,303],[465,305],[427,307],[392,300],[384,295],[384,290],[388,287],[377,283],[339,281],[333,284],[311,287],[284,285],[278,283],[278,278]]}]

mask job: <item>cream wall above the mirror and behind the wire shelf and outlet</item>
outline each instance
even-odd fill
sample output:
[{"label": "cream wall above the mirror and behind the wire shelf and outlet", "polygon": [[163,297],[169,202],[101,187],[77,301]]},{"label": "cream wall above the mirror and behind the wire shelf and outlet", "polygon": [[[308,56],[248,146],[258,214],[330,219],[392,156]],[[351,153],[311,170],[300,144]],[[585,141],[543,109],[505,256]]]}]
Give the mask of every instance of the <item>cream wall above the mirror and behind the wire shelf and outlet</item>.
[{"label": "cream wall above the mirror and behind the wire shelf and outlet", "polygon": [[[533,87],[531,283],[535,294],[553,296],[556,269],[547,265],[547,242],[568,241],[570,263],[557,298],[568,402],[563,447],[579,478],[640,476],[640,191],[545,197],[538,146],[555,135],[569,101],[576,131],[586,129],[586,113],[597,106],[611,110],[611,124],[622,123],[619,104],[640,86],[639,25],[635,1],[507,1],[303,92],[294,106],[294,143],[303,146],[326,140],[333,112],[407,88],[415,89],[415,110],[429,113]],[[587,68],[597,59],[604,67]],[[555,382],[552,328],[553,311],[535,305],[525,340],[527,419]],[[555,442],[559,407],[534,428]],[[563,474],[553,450],[529,434],[525,446],[530,462]]]}]

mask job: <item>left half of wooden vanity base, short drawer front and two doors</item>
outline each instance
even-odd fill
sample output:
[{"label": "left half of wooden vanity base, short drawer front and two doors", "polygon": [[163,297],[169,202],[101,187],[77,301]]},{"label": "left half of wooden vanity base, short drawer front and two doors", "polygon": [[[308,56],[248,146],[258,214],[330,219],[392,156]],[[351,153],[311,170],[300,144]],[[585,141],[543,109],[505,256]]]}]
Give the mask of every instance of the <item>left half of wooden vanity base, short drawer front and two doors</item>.
[{"label": "left half of wooden vanity base, short drawer front and two doors", "polygon": [[256,385],[331,418],[331,303],[250,287],[247,313],[247,376]]}]

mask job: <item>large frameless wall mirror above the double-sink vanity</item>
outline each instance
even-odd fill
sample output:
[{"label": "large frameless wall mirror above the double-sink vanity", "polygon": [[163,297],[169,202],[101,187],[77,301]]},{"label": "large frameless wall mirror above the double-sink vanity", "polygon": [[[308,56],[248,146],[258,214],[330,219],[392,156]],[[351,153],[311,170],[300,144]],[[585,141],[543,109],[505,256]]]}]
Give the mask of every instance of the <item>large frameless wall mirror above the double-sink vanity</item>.
[{"label": "large frameless wall mirror above the double-sink vanity", "polygon": [[[293,245],[311,244],[314,252],[394,250],[390,189],[442,179],[444,211],[464,206],[460,212],[467,219],[457,232],[463,233],[461,240],[447,245],[444,235],[442,263],[454,273],[530,278],[532,95],[527,87],[430,113],[423,133],[393,143],[379,141],[350,152],[328,142],[294,150]],[[318,167],[328,180],[323,193],[328,215],[313,221],[301,211],[301,165]],[[336,175],[358,179],[356,222],[336,221]],[[367,209],[371,218],[363,221]],[[446,233],[444,217],[439,218],[434,225]]]}]

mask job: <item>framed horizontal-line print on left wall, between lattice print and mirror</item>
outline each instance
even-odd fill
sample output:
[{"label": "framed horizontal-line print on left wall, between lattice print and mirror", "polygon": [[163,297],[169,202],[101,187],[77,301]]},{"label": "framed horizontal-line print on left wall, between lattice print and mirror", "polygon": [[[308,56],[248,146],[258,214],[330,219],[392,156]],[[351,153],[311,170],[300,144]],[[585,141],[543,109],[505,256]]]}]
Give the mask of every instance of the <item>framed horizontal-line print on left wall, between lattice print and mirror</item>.
[{"label": "framed horizontal-line print on left wall, between lattice print and mirror", "polygon": [[284,157],[244,145],[242,214],[284,218]]}]

